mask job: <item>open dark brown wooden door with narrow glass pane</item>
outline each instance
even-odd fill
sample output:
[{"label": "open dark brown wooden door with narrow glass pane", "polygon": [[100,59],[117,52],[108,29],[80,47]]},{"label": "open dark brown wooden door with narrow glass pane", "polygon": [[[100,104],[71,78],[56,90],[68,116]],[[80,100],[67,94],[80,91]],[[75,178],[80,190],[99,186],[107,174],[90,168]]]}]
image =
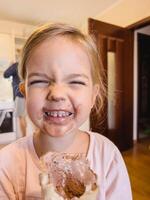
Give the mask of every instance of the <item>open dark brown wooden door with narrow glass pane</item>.
[{"label": "open dark brown wooden door with narrow glass pane", "polygon": [[102,124],[105,129],[95,125],[92,115],[91,129],[107,136],[120,150],[126,150],[132,147],[133,141],[133,33],[94,19],[88,23],[89,33],[96,38],[108,83],[104,110],[107,117]]}]

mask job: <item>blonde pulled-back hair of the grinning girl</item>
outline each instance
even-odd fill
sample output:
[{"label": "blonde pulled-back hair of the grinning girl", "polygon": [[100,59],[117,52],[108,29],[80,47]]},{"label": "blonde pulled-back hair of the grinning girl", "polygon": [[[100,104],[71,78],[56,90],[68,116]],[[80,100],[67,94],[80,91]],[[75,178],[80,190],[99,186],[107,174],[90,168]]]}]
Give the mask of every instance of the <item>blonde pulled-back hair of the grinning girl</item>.
[{"label": "blonde pulled-back hair of the grinning girl", "polygon": [[99,121],[99,119],[102,118],[101,113],[103,113],[106,99],[105,73],[94,40],[91,36],[83,34],[79,29],[67,24],[59,23],[46,24],[37,28],[28,38],[23,47],[21,61],[19,64],[20,77],[25,80],[26,64],[34,49],[46,39],[56,38],[57,36],[64,36],[74,42],[77,42],[84,48],[89,57],[91,62],[93,84],[99,85],[99,93],[91,112],[96,115],[96,119]]}]

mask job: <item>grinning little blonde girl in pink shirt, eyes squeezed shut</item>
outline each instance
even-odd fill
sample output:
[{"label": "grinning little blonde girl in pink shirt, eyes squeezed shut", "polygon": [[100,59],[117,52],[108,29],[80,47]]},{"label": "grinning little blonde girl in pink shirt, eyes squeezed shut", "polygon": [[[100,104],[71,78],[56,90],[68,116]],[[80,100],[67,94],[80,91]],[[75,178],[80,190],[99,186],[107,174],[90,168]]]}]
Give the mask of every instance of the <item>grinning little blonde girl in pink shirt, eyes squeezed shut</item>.
[{"label": "grinning little blonde girl in pink shirt, eyes squeezed shut", "polygon": [[38,28],[27,40],[20,75],[32,136],[0,151],[0,199],[42,199],[40,158],[48,152],[84,154],[98,177],[97,200],[131,200],[120,152],[104,136],[79,127],[103,109],[103,68],[89,36],[65,24]]}]

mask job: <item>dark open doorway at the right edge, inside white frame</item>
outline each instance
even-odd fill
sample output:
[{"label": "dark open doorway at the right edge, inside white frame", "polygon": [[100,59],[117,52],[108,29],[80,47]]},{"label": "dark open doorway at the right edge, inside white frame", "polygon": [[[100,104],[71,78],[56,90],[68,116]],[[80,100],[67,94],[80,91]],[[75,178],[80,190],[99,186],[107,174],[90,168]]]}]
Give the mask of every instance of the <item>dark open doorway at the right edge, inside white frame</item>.
[{"label": "dark open doorway at the right edge, inside white frame", "polygon": [[[150,27],[150,26],[149,26]],[[148,31],[147,31],[148,34]],[[150,28],[149,35],[137,34],[138,119],[137,139],[150,137]]]}]

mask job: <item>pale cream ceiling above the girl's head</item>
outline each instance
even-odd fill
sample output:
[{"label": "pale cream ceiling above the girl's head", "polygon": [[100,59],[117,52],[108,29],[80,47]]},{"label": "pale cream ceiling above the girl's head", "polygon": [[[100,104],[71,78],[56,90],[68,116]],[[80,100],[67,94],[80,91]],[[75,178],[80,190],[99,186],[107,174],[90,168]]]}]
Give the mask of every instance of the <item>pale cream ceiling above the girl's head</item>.
[{"label": "pale cream ceiling above the girl's head", "polygon": [[120,0],[0,0],[0,19],[37,25],[65,22],[81,26]]}]

